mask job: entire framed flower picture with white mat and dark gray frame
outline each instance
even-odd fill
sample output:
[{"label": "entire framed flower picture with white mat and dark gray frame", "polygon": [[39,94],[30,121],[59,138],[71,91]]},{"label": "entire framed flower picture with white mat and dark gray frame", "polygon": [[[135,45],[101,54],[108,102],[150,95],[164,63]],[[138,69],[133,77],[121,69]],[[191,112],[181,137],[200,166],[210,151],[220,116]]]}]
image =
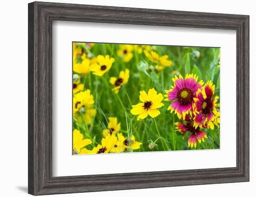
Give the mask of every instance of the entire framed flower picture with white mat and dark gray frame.
[{"label": "entire framed flower picture with white mat and dark gray frame", "polygon": [[28,4],[28,193],[249,181],[249,16]]}]

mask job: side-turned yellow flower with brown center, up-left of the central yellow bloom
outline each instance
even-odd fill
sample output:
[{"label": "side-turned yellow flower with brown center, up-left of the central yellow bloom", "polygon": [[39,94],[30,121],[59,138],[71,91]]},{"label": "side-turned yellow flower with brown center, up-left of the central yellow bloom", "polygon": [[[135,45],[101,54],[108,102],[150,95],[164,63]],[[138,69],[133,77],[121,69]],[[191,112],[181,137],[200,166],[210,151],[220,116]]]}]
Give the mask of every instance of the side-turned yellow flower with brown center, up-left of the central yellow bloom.
[{"label": "side-turned yellow flower with brown center, up-left of the central yellow bloom", "polygon": [[125,69],[125,71],[121,71],[119,73],[119,78],[111,77],[109,79],[109,83],[114,85],[115,87],[112,89],[112,91],[115,91],[117,94],[119,92],[119,89],[122,87],[122,85],[127,84],[129,79],[129,70]]}]

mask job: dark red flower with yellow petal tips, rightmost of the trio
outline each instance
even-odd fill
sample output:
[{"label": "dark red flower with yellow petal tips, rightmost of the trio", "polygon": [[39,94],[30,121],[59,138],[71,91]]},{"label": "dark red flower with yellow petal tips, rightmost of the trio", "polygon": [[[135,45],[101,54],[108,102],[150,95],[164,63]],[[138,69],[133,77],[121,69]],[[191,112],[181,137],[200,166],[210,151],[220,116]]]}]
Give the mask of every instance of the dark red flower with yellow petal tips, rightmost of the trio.
[{"label": "dark red flower with yellow petal tips, rightmost of the trio", "polygon": [[215,85],[211,81],[208,81],[201,89],[196,92],[196,98],[194,98],[195,103],[194,108],[194,126],[206,126],[207,128],[214,129],[214,125],[217,125],[217,100],[218,96],[213,97],[215,91]]}]

